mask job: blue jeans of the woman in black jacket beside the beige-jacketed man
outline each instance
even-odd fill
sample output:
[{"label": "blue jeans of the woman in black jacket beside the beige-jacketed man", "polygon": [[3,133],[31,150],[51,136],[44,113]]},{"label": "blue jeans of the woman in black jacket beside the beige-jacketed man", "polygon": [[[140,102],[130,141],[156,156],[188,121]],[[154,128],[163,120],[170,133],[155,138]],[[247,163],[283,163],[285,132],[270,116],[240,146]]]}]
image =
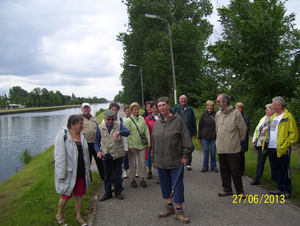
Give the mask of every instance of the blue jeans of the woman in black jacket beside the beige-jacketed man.
[{"label": "blue jeans of the woman in black jacket beside the beige-jacketed man", "polygon": [[[210,147],[209,147],[210,145]],[[202,139],[202,147],[203,147],[203,168],[209,169],[209,152],[210,152],[210,168],[217,168],[216,164],[216,140],[205,140]]]}]

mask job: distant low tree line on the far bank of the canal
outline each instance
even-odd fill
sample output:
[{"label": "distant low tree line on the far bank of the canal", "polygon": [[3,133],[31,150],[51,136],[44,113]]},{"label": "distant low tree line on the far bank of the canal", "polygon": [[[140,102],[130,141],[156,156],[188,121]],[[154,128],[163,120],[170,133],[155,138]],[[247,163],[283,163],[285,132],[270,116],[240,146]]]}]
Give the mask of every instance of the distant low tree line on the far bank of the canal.
[{"label": "distant low tree line on the far bank of the canal", "polygon": [[88,103],[106,103],[105,98],[85,98],[76,97],[74,93],[72,96],[63,95],[60,91],[48,91],[46,88],[36,87],[31,92],[27,92],[20,86],[13,86],[9,89],[8,97],[6,94],[0,98],[0,106],[7,106],[8,104],[21,104],[26,107],[49,107],[60,105],[74,105]]}]

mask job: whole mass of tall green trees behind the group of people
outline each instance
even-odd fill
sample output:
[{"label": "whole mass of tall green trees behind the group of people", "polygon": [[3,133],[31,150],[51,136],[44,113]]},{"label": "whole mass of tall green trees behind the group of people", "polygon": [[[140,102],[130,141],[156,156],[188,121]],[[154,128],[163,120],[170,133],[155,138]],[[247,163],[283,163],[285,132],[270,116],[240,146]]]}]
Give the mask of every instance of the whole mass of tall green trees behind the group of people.
[{"label": "whole mass of tall green trees behind the group of people", "polygon": [[288,101],[298,126],[300,115],[300,32],[295,14],[286,15],[285,1],[231,0],[218,9],[220,40],[208,44],[213,26],[209,0],[125,0],[129,15],[127,32],[118,40],[124,49],[121,81],[116,98],[141,103],[142,67],[145,101],[168,96],[173,100],[172,71],[166,23],[146,18],[159,15],[171,25],[178,96],[186,94],[193,107],[204,106],[219,93],[233,103],[245,104],[255,126],[265,105],[275,96]]}]

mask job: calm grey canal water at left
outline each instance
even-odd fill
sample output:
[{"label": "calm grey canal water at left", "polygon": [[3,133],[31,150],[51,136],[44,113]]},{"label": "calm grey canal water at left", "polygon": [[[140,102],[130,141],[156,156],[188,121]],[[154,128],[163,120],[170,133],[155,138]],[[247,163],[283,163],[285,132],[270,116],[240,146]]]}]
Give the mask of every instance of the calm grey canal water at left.
[{"label": "calm grey canal water at left", "polygon": [[[91,114],[95,115],[100,108],[107,109],[108,106],[109,103],[93,104]],[[38,154],[53,145],[57,133],[67,124],[68,117],[81,113],[80,109],[1,115],[0,183],[21,166],[17,158],[26,148],[31,150],[31,154]]]}]

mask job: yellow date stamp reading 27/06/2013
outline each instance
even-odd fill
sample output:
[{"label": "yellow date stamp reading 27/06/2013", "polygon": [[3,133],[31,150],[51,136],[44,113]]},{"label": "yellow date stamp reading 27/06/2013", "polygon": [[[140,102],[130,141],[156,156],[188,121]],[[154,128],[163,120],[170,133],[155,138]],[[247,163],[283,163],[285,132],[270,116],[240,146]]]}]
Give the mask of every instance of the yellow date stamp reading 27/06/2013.
[{"label": "yellow date stamp reading 27/06/2013", "polygon": [[272,203],[285,203],[284,195],[246,195],[243,199],[243,195],[233,195],[232,203],[253,203],[253,204],[272,204]]}]

